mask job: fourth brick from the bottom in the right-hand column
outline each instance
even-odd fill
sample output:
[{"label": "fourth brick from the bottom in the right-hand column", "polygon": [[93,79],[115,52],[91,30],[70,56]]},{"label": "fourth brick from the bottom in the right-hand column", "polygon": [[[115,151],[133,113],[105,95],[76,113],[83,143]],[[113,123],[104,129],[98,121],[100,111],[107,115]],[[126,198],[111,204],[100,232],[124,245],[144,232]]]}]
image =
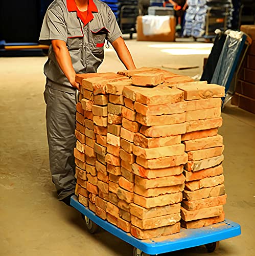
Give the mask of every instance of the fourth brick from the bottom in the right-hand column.
[{"label": "fourth brick from the bottom in the right-hand column", "polygon": [[184,190],[183,198],[189,201],[195,201],[195,200],[200,200],[208,197],[217,197],[224,194],[225,194],[225,186],[224,184],[222,184],[218,186],[198,189],[195,191]]}]

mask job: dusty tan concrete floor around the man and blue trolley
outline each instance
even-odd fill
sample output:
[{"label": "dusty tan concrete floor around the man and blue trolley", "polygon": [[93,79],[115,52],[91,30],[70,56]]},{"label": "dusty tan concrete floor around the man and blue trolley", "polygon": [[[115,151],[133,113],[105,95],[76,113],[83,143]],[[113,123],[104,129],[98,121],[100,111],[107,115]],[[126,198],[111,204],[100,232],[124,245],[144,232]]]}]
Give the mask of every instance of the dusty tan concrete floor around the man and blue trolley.
[{"label": "dusty tan concrete floor around the man and blue trolley", "polygon": [[[176,72],[201,73],[210,45],[128,41],[136,65],[198,65]],[[184,54],[184,55],[183,55]],[[192,54],[192,55],[190,55]],[[56,199],[45,130],[42,73],[46,57],[0,58],[0,255],[132,255],[132,247],[101,231],[92,236],[80,214]],[[100,71],[123,69],[112,50]],[[226,217],[242,226],[242,236],[223,241],[211,255],[254,253],[254,115],[228,106],[220,133],[225,143]],[[204,247],[166,255],[207,255]]]}]

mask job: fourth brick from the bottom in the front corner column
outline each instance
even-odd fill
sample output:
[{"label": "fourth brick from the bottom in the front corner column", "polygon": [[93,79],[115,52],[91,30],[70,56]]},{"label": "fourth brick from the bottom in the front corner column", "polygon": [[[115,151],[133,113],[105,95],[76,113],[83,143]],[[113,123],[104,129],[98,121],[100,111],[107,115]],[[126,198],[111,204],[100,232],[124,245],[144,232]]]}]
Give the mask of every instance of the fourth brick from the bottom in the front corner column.
[{"label": "fourth brick from the bottom in the front corner column", "polygon": [[180,203],[182,201],[182,193],[179,192],[174,194],[166,194],[163,196],[150,197],[150,198],[145,198],[143,196],[138,196],[134,194],[133,200],[135,204],[149,209],[157,206],[165,206],[169,204]]}]

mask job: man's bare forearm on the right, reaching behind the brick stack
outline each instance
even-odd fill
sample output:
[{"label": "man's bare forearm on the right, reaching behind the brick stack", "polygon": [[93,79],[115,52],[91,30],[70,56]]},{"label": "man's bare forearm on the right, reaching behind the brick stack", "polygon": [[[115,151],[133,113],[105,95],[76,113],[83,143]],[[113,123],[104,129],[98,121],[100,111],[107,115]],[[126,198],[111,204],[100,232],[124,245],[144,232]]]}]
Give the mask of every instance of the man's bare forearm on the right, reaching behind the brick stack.
[{"label": "man's bare forearm on the right, reaching behind the brick stack", "polygon": [[136,69],[134,65],[133,58],[125,44],[125,41],[122,37],[119,37],[111,43],[114,50],[117,52],[120,60],[125,65],[126,69]]}]

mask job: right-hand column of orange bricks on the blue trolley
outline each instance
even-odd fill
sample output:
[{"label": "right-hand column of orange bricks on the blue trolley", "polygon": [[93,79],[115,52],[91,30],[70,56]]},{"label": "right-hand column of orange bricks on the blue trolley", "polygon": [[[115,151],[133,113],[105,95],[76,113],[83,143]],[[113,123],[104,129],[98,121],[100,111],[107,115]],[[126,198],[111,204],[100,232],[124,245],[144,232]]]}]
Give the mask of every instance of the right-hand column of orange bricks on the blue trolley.
[{"label": "right-hand column of orange bricks on the blue trolley", "polygon": [[225,217],[224,145],[222,136],[218,135],[224,88],[205,82],[191,82],[177,88],[183,90],[187,101],[186,134],[181,139],[188,153],[181,224],[199,228],[222,222]]}]

